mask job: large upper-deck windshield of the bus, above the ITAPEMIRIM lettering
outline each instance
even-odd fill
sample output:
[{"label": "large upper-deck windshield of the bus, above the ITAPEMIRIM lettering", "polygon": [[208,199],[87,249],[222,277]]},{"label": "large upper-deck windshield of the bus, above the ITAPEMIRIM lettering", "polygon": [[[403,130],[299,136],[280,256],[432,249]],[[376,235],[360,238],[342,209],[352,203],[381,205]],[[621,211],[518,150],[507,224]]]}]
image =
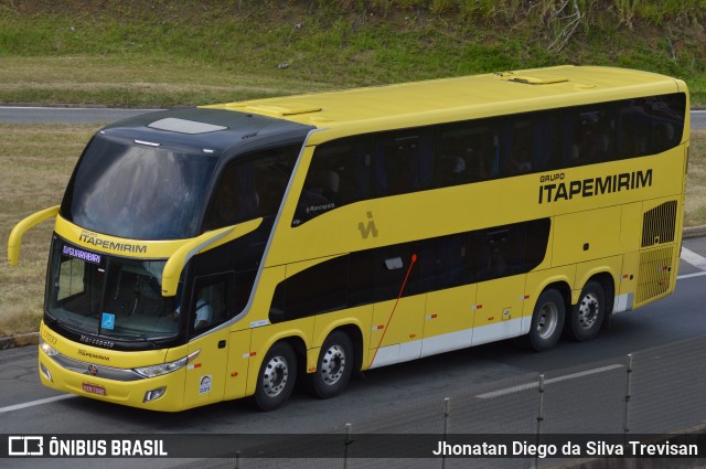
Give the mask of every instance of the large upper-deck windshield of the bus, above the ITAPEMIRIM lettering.
[{"label": "large upper-deck windshield of the bus, above the ITAPEMIRIM lettering", "polygon": [[96,136],[66,190],[62,216],[131,239],[193,237],[216,162]]}]

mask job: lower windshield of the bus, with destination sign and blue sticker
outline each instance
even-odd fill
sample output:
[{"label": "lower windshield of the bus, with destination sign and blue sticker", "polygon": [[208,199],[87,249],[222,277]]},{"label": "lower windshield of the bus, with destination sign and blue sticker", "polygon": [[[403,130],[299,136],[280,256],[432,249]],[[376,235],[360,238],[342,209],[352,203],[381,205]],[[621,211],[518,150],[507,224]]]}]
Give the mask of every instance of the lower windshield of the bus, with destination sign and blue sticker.
[{"label": "lower windshield of the bus, with destination sign and blue sticker", "polygon": [[47,315],[77,332],[115,340],[174,338],[181,291],[162,297],[164,263],[92,253],[55,238]]}]

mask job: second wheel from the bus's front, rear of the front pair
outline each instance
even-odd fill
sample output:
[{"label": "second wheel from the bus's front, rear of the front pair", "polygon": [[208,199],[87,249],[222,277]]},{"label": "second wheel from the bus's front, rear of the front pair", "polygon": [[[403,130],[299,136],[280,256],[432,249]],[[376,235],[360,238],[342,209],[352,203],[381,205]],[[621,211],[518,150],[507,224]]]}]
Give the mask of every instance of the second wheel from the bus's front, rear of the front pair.
[{"label": "second wheel from the bus's front, rear of the front pair", "polygon": [[317,371],[311,376],[313,393],[322,399],[345,390],[353,372],[353,343],[343,331],[334,331],[321,345]]}]

